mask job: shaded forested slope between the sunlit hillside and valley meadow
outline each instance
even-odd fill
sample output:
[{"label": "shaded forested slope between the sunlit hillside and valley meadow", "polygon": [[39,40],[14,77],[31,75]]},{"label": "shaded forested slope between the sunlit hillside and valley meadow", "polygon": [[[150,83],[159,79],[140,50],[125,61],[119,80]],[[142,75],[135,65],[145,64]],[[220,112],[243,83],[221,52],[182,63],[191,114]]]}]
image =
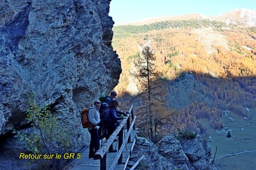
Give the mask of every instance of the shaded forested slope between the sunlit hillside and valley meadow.
[{"label": "shaded forested slope between the sunlit hillside and valley meadow", "polygon": [[[200,118],[207,118],[213,129],[221,129],[221,116],[227,112],[232,111],[245,120],[250,120],[253,115],[250,110],[255,108],[256,104],[255,76],[223,79],[207,74],[184,72],[174,80],[165,81],[168,84],[166,107],[177,110],[178,114],[172,117],[172,120],[179,130],[189,129],[205,134],[207,129],[198,121]],[[132,101],[134,97],[129,92],[119,95],[121,109],[129,109],[130,104],[134,104],[134,113],[139,113],[136,108],[141,102]],[[138,119],[140,118],[143,117],[138,116]],[[163,134],[177,131],[173,126],[170,122],[169,126],[164,125],[158,130]]]}]

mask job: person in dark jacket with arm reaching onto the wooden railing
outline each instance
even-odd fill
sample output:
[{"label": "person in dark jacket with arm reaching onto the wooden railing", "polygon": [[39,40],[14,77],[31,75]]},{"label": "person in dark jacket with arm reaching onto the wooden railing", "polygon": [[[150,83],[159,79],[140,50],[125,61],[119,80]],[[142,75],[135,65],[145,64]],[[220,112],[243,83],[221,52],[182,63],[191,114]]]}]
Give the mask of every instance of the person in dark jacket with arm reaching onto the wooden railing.
[{"label": "person in dark jacket with arm reaching onto the wooden railing", "polygon": [[[108,135],[106,136],[106,140],[112,135],[112,133],[115,131],[117,126],[119,125],[119,121],[123,118],[126,118],[123,115],[120,115],[117,113],[117,107],[118,107],[118,102],[117,100],[112,100],[110,102],[109,108],[105,110],[104,114],[102,114],[102,120],[104,125],[108,129]],[[113,145],[109,147],[109,152],[117,152],[117,150],[113,149]]]}]

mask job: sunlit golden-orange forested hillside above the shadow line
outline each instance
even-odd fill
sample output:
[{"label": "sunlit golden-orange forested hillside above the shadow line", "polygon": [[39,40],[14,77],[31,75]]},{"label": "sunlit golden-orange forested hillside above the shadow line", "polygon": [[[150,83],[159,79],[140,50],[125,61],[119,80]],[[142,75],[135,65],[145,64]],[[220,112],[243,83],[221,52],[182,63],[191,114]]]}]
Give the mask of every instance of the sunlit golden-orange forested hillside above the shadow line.
[{"label": "sunlit golden-orange forested hillside above the shadow line", "polygon": [[216,78],[256,75],[256,28],[238,28],[210,20],[160,22],[114,27],[113,46],[123,73],[115,88],[126,91],[133,56],[139,45],[154,49],[163,76],[176,78],[184,71]]}]

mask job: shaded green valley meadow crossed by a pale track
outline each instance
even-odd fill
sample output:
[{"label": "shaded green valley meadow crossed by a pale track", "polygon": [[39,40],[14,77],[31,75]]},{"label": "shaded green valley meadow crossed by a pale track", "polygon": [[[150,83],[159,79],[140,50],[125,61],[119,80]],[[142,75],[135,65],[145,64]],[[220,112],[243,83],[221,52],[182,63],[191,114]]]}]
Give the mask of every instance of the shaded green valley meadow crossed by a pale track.
[{"label": "shaded green valley meadow crossed by a pale track", "polygon": [[[246,109],[246,108],[245,108]],[[210,128],[207,120],[201,120],[207,127],[207,133],[210,136],[210,147],[212,148],[212,158],[216,151],[216,165],[221,169],[254,169],[256,159],[256,109],[250,109],[251,119],[237,116],[230,113],[230,120],[225,114],[222,115],[221,121],[223,129],[214,130]],[[226,135],[230,131],[231,138]]]}]

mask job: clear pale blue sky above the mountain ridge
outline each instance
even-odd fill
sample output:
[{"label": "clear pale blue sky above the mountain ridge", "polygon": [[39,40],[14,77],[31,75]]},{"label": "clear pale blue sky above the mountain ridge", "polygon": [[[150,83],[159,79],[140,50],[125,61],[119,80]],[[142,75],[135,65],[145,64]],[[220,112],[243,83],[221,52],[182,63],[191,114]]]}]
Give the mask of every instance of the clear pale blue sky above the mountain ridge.
[{"label": "clear pale blue sky above the mountain ridge", "polygon": [[115,24],[122,24],[158,16],[217,16],[238,8],[255,10],[256,0],[112,0],[109,15]]}]

